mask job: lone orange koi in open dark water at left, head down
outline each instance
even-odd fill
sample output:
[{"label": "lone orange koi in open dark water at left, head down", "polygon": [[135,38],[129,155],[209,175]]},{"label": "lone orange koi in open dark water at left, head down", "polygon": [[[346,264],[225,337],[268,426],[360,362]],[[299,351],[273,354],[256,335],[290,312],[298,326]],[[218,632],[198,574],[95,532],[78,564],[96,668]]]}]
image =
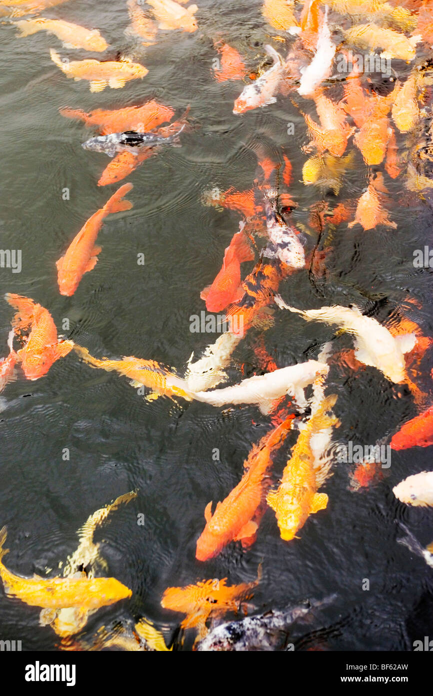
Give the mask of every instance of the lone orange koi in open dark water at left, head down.
[{"label": "lone orange koi in open dark water at left, head down", "polygon": [[88,273],[97,263],[97,255],[101,246],[95,246],[98,232],[101,229],[104,218],[111,214],[130,210],[130,200],[122,200],[126,193],[131,191],[133,184],[124,184],[109,198],[104,207],[99,208],[74,237],[64,256],[56,262],[57,280],[60,294],[70,297],[79,286],[81,278]]}]

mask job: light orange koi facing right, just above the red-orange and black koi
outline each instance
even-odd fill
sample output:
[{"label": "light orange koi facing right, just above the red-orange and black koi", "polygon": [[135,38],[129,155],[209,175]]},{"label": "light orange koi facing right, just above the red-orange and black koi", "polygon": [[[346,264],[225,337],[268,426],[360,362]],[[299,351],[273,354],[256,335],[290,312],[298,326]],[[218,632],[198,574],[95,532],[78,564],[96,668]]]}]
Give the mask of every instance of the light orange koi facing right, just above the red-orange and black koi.
[{"label": "light orange koi facing right, just above the red-orange and black koi", "polygon": [[142,79],[149,70],[140,63],[133,63],[129,58],[120,61],[100,61],[87,58],[85,61],[63,62],[54,49],[49,49],[51,61],[66,75],[74,80],[90,81],[90,92],[101,92],[106,87],[119,89],[126,82],[133,79]]}]

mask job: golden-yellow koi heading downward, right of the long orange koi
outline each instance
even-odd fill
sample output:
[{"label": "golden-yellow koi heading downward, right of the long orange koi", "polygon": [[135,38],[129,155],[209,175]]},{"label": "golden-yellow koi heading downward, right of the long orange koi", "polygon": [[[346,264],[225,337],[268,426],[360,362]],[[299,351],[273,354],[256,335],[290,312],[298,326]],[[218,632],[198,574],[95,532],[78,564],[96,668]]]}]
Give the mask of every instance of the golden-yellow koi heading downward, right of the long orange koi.
[{"label": "golden-yellow koi heading downward, right of the long orange koi", "polygon": [[332,413],[328,415],[336,400],[336,395],[328,396],[311,409],[311,416],[292,448],[292,457],[288,459],[277,491],[271,491],[266,498],[268,505],[275,510],[284,541],[295,538],[309,515],[327,507],[328,496],[318,493],[318,489],[329,476],[332,461],[320,457],[315,449],[320,443],[323,454],[332,427],[340,425],[338,418]]}]

